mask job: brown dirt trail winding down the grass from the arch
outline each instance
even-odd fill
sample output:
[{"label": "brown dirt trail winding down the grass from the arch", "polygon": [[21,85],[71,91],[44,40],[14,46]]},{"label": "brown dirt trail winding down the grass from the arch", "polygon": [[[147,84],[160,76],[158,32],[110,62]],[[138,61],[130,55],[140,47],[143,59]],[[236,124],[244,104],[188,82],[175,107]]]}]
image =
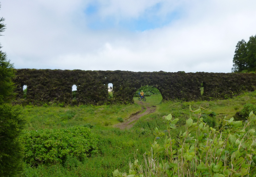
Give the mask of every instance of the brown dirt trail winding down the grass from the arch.
[{"label": "brown dirt trail winding down the grass from the arch", "polygon": [[[129,129],[131,128],[135,122],[143,115],[153,113],[156,111],[156,106],[149,107],[147,105],[144,105],[144,102],[139,102],[139,105],[141,105],[141,111],[136,112],[135,114],[132,114],[125,122],[116,124],[114,127],[120,128],[120,129]],[[146,106],[146,111],[140,114],[142,111],[145,110],[144,106]]]}]

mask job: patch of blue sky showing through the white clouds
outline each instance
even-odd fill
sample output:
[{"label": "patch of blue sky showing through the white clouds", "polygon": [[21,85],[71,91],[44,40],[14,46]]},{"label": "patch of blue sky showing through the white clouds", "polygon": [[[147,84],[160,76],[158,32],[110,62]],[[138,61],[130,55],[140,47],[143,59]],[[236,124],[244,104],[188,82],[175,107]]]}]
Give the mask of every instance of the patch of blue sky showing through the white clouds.
[{"label": "patch of blue sky showing through the white clouds", "polygon": [[86,10],[87,26],[92,30],[104,30],[111,28],[121,28],[130,31],[145,31],[155,28],[161,28],[178,20],[181,16],[181,11],[170,12],[166,15],[160,15],[159,12],[162,4],[158,3],[155,6],[146,9],[146,11],[138,18],[130,19],[115,19],[115,16],[101,18],[97,14],[97,5],[89,5]]}]

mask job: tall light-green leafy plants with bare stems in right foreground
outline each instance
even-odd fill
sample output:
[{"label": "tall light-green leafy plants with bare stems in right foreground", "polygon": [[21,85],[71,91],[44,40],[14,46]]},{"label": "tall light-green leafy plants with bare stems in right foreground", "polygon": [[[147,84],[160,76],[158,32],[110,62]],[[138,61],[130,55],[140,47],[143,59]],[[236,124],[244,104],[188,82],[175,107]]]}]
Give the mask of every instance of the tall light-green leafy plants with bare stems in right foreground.
[{"label": "tall light-green leafy plants with bare stems in right foreground", "polygon": [[[190,107],[186,131],[180,132],[177,142],[171,139],[170,132],[179,119],[166,116],[167,130],[155,128],[155,140],[151,151],[143,154],[143,162],[140,164],[135,155],[134,163],[129,164],[129,175],[116,169],[113,177],[256,176],[256,137],[255,129],[250,128],[256,120],[253,112],[244,125],[233,121],[233,117],[223,120],[218,131],[203,122],[202,114],[209,111],[202,107],[193,111]],[[197,117],[196,122],[193,116]],[[162,146],[157,142],[160,137],[165,137]],[[177,149],[173,149],[175,143],[179,145]]]}]

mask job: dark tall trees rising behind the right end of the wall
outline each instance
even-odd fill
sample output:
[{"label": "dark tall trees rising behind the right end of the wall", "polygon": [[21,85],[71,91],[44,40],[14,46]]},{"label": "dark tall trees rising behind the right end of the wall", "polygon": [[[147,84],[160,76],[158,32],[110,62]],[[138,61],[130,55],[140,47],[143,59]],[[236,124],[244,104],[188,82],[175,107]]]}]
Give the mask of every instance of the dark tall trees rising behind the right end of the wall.
[{"label": "dark tall trees rising behind the right end of the wall", "polygon": [[251,36],[246,43],[244,39],[238,41],[233,58],[233,72],[256,70],[256,35]]}]

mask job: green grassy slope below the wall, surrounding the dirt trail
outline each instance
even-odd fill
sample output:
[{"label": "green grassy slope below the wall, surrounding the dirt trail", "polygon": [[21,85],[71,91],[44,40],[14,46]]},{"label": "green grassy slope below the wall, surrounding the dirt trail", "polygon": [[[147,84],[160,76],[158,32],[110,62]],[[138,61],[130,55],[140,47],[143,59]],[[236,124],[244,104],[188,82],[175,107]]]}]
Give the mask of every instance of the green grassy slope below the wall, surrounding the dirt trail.
[{"label": "green grassy slope below the wall, surrounding the dirt trail", "polygon": [[[26,106],[23,114],[27,118],[28,130],[44,128],[65,128],[71,126],[93,125],[92,132],[98,138],[99,154],[86,159],[83,162],[77,159],[69,159],[68,164],[40,165],[37,168],[27,166],[23,176],[112,176],[116,168],[119,171],[128,171],[128,161],[134,159],[137,152],[138,159],[148,151],[153,142],[152,134],[155,127],[159,131],[166,129],[163,123],[164,115],[172,114],[180,120],[176,123],[177,129],[173,129],[171,136],[177,138],[189,118],[189,106],[198,109],[199,106],[210,109],[216,113],[216,123],[220,123],[226,116],[232,117],[237,111],[243,108],[244,104],[256,104],[256,92],[249,92],[227,100],[215,101],[169,101],[162,102],[162,96],[152,95],[147,97],[145,106],[157,106],[154,113],[142,116],[129,130],[112,128],[112,125],[119,123],[118,117],[128,118],[132,113],[141,110],[138,97],[134,97],[134,105],[111,105],[111,106],[85,106],[78,107],[34,107]],[[164,140],[159,139],[159,143]]]}]

